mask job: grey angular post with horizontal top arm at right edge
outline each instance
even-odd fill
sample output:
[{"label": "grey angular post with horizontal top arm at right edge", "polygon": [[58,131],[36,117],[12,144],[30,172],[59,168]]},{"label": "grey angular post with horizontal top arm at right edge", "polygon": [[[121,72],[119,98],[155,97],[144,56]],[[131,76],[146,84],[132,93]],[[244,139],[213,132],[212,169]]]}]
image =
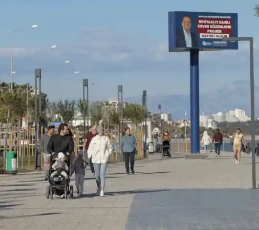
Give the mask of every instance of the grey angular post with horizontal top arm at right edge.
[{"label": "grey angular post with horizontal top arm at right edge", "polygon": [[250,103],[251,103],[251,148],[252,148],[252,188],[256,189],[256,173],[255,173],[255,112],[254,112],[254,64],[253,64],[253,37],[226,37],[223,41],[249,41],[250,53]]}]

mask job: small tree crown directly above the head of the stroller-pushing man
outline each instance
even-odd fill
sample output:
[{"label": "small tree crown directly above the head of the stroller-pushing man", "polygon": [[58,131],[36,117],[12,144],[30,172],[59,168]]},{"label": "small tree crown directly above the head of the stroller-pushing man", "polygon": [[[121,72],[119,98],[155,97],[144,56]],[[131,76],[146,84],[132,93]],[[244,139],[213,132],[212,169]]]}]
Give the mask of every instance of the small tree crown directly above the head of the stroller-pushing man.
[{"label": "small tree crown directly above the head of the stroller-pushing man", "polygon": [[76,111],[76,102],[68,100],[59,101],[57,103],[58,108],[58,114],[62,118],[63,122],[69,123],[72,122],[75,117],[75,111]]}]

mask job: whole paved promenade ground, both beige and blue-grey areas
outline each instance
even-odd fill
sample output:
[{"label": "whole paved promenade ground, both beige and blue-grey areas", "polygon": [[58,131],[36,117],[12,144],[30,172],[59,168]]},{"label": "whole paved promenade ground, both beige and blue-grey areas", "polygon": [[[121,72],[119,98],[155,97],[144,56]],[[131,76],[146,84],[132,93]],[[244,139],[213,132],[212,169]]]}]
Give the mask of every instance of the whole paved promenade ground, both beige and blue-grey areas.
[{"label": "whole paved promenade ground, both beige and blue-grey areas", "polygon": [[94,196],[95,180],[87,170],[87,195],[73,200],[46,199],[48,183],[39,172],[0,176],[0,228],[259,229],[259,191],[249,190],[250,163],[244,156],[235,165],[226,152],[207,160],[150,156],[136,163],[131,176],[123,164],[110,165],[105,197]]}]

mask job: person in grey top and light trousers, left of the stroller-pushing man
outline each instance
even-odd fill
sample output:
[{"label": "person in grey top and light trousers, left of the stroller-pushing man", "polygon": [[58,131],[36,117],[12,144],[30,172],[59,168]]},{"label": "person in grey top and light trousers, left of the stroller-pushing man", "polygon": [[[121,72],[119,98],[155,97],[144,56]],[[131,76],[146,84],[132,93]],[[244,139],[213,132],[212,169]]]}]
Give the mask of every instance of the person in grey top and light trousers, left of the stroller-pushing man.
[{"label": "person in grey top and light trousers, left of the stroller-pushing man", "polygon": [[49,178],[49,168],[50,168],[50,154],[48,153],[47,146],[50,141],[50,137],[54,134],[55,126],[51,125],[47,128],[47,133],[43,134],[39,141],[39,151],[43,156],[44,166],[43,169],[45,170],[45,180]]}]

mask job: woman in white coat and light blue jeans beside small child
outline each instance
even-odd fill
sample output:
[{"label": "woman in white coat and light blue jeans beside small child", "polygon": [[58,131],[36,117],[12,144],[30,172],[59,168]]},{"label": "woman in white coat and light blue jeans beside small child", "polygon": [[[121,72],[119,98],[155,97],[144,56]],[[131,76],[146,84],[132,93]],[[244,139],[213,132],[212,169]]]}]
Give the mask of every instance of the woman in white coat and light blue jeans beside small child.
[{"label": "woman in white coat and light blue jeans beside small child", "polygon": [[104,135],[102,126],[98,125],[96,130],[98,134],[90,142],[87,154],[89,159],[92,157],[92,163],[94,165],[97,195],[104,196],[105,173],[113,146],[109,137]]}]

